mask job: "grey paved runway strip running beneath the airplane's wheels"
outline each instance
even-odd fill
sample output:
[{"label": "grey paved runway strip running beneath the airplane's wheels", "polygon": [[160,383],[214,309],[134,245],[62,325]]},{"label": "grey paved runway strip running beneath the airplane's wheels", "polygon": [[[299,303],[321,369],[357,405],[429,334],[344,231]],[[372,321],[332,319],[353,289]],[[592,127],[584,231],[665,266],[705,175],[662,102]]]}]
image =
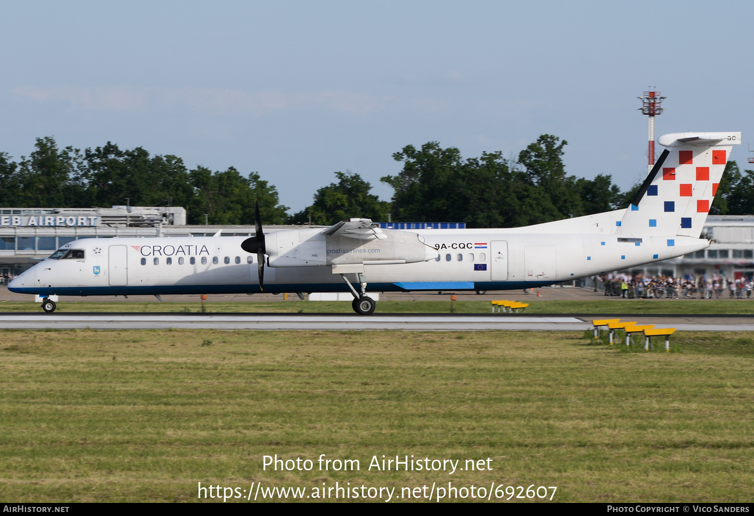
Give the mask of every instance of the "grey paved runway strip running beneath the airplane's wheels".
[{"label": "grey paved runway strip running beneath the airplane's wheels", "polygon": [[[604,316],[602,316],[604,317]],[[618,315],[611,315],[618,318]],[[198,314],[198,313],[0,313],[0,328],[145,330],[578,330],[592,327],[594,315],[557,314]],[[754,317],[728,315],[622,316],[624,321],[687,331],[754,331]]]}]

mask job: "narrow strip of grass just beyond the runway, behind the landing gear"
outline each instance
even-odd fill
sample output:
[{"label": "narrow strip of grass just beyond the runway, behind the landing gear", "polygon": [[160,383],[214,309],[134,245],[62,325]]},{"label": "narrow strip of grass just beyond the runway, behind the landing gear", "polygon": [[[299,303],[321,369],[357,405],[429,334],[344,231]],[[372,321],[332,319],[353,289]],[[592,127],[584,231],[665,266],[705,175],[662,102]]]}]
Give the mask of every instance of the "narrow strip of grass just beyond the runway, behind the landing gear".
[{"label": "narrow strip of grass just beyond the runway, behind the landing gear", "polygon": [[[449,297],[449,296],[448,296]],[[516,296],[520,299],[523,296]],[[506,299],[495,296],[492,299]],[[544,301],[532,296],[523,298],[529,307],[526,313],[590,314],[750,314],[754,315],[752,299],[579,299]],[[207,312],[300,312],[300,313],[354,313],[351,303],[338,301],[273,301],[268,303],[205,303]],[[456,301],[454,312],[479,314],[491,312],[489,301]],[[41,312],[37,303],[8,301],[0,303],[0,312]],[[198,301],[182,303],[96,303],[89,301],[61,301],[57,312],[201,312]],[[450,300],[443,301],[379,301],[375,313],[449,313]],[[504,317],[504,314],[501,314]]]}]

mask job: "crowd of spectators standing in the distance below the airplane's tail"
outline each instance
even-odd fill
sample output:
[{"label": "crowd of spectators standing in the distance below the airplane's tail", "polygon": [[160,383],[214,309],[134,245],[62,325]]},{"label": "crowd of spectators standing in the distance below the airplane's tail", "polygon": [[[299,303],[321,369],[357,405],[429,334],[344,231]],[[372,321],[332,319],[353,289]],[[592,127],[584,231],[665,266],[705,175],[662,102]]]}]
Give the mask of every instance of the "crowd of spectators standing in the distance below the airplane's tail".
[{"label": "crowd of spectators standing in the distance below the airplane's tail", "polygon": [[[754,279],[706,275],[696,278],[642,275],[603,275],[599,278],[605,296],[627,299],[750,299]],[[599,285],[599,283],[597,283]]]}]

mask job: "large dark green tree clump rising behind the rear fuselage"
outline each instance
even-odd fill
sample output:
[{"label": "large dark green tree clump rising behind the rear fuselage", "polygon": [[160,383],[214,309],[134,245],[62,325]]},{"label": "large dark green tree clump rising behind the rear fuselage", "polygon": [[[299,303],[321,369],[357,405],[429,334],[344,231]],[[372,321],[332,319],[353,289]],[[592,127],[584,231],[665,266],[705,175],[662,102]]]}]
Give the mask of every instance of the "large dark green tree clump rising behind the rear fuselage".
[{"label": "large dark green tree clump rising behind the rear fuselage", "polygon": [[393,187],[394,220],[464,222],[468,227],[514,227],[615,207],[620,189],[610,176],[567,176],[566,141],[543,134],[511,162],[501,152],[461,158],[437,142],[405,146],[393,157],[403,170],[382,181]]}]

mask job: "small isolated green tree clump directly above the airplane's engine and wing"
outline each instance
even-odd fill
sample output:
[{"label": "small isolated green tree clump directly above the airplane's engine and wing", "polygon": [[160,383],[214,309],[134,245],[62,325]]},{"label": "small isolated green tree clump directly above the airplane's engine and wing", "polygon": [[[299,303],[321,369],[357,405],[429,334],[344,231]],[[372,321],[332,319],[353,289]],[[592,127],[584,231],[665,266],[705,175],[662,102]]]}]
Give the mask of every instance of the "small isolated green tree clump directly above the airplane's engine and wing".
[{"label": "small isolated green tree clump directly above the airplane's engine and wing", "polygon": [[344,219],[364,218],[387,220],[390,204],[380,201],[377,195],[369,193],[372,185],[359,174],[336,172],[338,183],[323,186],[314,194],[314,202],[298,213],[294,213],[289,223],[311,223],[317,226],[330,226]]}]

